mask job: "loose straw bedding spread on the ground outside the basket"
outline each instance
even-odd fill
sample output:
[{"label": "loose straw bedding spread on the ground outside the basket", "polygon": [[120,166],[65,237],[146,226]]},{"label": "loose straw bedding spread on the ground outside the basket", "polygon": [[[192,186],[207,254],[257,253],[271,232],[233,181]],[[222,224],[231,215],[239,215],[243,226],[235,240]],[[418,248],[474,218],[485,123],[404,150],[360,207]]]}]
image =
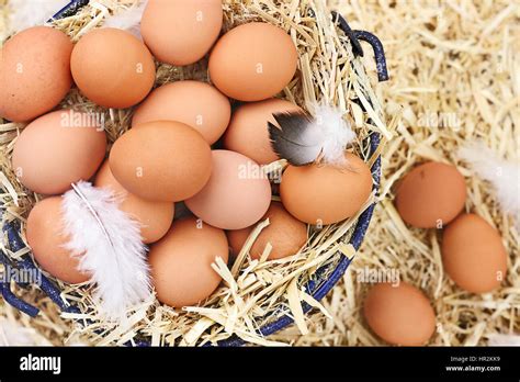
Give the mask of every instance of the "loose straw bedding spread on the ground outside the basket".
[{"label": "loose straw bedding spread on the ground outside the basket", "polygon": [[[395,182],[418,161],[453,162],[468,176],[455,157],[455,148],[465,139],[482,138],[501,155],[518,159],[519,5],[509,1],[328,2],[353,29],[371,31],[382,40],[391,81],[375,89],[386,113],[392,115],[402,105],[403,117],[397,138],[383,153],[381,203],[361,251],[323,302],[329,317],[319,312],[309,316],[305,336],[292,327],[270,339],[310,346],[381,344],[360,315],[370,286],[361,282],[362,276],[371,271],[397,274],[425,290],[437,312],[433,345],[485,345],[494,334],[519,333],[519,233],[498,210],[488,184],[466,178],[466,210],[502,233],[510,258],[504,288],[482,296],[454,286],[442,272],[438,233],[408,228],[392,202]],[[0,0],[0,5],[4,3]],[[4,20],[0,20],[0,35],[3,33]],[[369,46],[365,56],[366,67],[374,71]],[[375,72],[372,76],[375,78]],[[69,345],[81,340],[70,337],[70,324],[58,316],[52,303],[38,305],[41,316],[30,319],[0,303],[0,344],[16,340],[14,330],[10,329],[11,338],[2,332],[7,322],[24,327],[20,340],[34,338],[37,344],[56,345],[65,339]]]}]

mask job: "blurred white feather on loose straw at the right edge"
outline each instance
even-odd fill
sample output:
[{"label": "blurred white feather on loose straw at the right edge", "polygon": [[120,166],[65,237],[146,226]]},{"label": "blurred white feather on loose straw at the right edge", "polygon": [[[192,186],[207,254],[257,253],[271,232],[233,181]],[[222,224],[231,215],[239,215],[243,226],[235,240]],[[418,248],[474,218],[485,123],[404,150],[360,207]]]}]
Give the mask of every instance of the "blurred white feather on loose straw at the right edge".
[{"label": "blurred white feather on loose straw at the right edge", "polygon": [[500,207],[515,217],[520,228],[520,162],[498,157],[482,142],[464,145],[459,149],[459,156],[479,178],[493,184]]}]

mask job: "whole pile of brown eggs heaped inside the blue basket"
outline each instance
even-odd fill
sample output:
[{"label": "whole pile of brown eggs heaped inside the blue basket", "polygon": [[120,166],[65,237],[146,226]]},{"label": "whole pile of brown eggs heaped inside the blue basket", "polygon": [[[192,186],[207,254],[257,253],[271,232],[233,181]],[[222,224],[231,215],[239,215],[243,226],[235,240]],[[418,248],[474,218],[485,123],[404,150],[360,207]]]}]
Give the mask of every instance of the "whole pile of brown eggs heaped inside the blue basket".
[{"label": "whole pile of brown eggs heaped inside the blue basket", "polygon": [[[29,190],[46,195],[30,213],[26,238],[47,272],[65,282],[89,280],[63,247],[60,226],[60,194],[79,180],[122,196],[120,207],[140,223],[150,245],[158,299],[171,306],[207,297],[221,282],[211,268],[215,257],[227,260],[229,245],[237,254],[260,220],[269,217],[270,226],[251,256],[270,243],[270,258],[281,258],[305,245],[306,224],[343,221],[368,200],[370,170],[348,154],[349,170],[289,166],[281,202],[271,201],[261,166],[279,157],[268,122],[275,124],[273,113],[301,111],[274,98],[296,74],[297,50],[285,31],[269,23],[242,24],[219,36],[222,25],[219,0],[150,0],[143,41],[102,27],[74,45],[63,32],[41,26],[5,43],[0,116],[29,123],[15,142],[12,166]],[[184,80],[152,89],[154,58],[184,66],[207,54],[212,85]],[[135,106],[131,128],[108,159],[99,115],[53,111],[72,83],[100,106]],[[241,102],[233,113],[230,99]],[[192,215],[173,220],[180,202]]]}]

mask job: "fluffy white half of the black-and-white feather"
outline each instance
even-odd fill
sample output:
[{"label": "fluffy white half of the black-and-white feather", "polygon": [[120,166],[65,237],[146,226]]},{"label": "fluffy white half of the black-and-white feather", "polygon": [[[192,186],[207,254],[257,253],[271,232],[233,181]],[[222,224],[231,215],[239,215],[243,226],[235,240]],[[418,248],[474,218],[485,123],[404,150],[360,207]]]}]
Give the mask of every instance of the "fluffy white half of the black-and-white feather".
[{"label": "fluffy white half of the black-and-white feather", "polygon": [[320,132],[323,159],[331,165],[344,165],[344,149],[355,138],[355,133],[343,119],[341,111],[329,105],[314,109],[316,131]]}]

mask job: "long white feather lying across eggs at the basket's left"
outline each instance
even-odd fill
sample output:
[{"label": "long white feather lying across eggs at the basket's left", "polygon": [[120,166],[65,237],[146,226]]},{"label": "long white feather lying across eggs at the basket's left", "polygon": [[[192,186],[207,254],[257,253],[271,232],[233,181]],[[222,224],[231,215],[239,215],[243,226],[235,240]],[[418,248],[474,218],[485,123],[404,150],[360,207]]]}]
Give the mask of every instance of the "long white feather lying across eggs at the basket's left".
[{"label": "long white feather lying across eggs at the basket's left", "polygon": [[94,297],[109,319],[123,319],[133,305],[149,299],[149,267],[139,223],[118,209],[108,189],[89,182],[64,194],[65,247],[79,259],[79,270],[91,274]]}]

